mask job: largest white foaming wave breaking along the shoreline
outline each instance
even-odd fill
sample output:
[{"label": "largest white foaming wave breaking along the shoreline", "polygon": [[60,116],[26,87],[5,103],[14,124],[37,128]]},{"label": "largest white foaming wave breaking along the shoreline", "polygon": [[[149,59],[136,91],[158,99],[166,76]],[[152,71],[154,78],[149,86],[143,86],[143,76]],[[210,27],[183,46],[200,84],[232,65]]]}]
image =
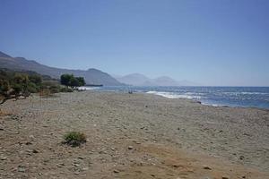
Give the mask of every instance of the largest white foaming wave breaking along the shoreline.
[{"label": "largest white foaming wave breaking along the shoreline", "polygon": [[165,98],[188,98],[188,99],[200,99],[202,97],[200,96],[195,96],[195,95],[190,95],[190,94],[175,94],[172,92],[164,92],[164,91],[154,91],[154,90],[150,90],[148,92],[146,92],[147,94],[153,94],[153,95],[158,95],[161,97],[165,97]]}]

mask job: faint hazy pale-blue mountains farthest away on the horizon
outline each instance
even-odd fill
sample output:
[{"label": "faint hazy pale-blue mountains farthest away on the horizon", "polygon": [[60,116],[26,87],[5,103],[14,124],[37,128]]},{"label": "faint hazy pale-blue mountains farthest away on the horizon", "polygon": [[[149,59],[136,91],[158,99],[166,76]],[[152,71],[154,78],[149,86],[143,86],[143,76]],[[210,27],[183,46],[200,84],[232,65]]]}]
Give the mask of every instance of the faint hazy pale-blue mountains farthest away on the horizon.
[{"label": "faint hazy pale-blue mountains farthest away on the horizon", "polygon": [[134,86],[196,86],[192,81],[176,81],[168,76],[161,76],[156,79],[150,79],[140,73],[132,73],[126,76],[116,78],[117,81]]}]

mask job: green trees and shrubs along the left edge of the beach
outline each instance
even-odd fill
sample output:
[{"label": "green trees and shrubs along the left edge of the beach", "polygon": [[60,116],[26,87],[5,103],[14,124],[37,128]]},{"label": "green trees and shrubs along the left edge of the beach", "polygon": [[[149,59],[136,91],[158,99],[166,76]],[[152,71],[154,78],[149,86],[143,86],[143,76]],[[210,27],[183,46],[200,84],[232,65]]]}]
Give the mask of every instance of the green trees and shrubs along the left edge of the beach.
[{"label": "green trees and shrubs along the left edge of the beach", "polygon": [[73,74],[63,74],[61,84],[58,80],[37,72],[0,69],[0,104],[11,98],[27,98],[31,93],[39,93],[40,97],[50,97],[58,92],[73,92],[78,90],[77,87],[85,85],[85,81],[82,77],[74,77]]}]

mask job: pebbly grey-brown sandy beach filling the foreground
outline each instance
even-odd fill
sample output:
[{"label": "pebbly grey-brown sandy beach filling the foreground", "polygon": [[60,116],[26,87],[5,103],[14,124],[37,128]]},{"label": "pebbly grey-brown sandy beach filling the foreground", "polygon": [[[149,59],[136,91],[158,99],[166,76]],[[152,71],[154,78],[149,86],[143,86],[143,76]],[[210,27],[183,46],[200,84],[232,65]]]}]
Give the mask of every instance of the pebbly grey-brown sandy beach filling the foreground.
[{"label": "pebbly grey-brown sandy beach filling the foreground", "polygon": [[[1,106],[0,178],[269,178],[269,110],[82,91]],[[66,132],[87,136],[62,144]]]}]

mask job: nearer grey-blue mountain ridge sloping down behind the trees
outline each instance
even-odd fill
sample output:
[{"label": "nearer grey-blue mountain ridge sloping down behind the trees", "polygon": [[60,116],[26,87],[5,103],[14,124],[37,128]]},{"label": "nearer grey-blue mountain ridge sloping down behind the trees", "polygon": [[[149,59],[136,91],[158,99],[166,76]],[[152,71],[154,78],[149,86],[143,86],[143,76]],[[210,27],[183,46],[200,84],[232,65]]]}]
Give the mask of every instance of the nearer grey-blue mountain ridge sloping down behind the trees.
[{"label": "nearer grey-blue mountain ridge sloping down behind the trees", "polygon": [[123,85],[106,72],[101,72],[97,69],[83,70],[68,70],[50,67],[44,64],[39,64],[36,61],[27,60],[23,57],[12,57],[0,52],[0,68],[20,71],[34,71],[40,74],[49,75],[52,78],[59,79],[63,73],[73,73],[74,76],[84,77],[87,84],[102,84],[105,86]]}]

